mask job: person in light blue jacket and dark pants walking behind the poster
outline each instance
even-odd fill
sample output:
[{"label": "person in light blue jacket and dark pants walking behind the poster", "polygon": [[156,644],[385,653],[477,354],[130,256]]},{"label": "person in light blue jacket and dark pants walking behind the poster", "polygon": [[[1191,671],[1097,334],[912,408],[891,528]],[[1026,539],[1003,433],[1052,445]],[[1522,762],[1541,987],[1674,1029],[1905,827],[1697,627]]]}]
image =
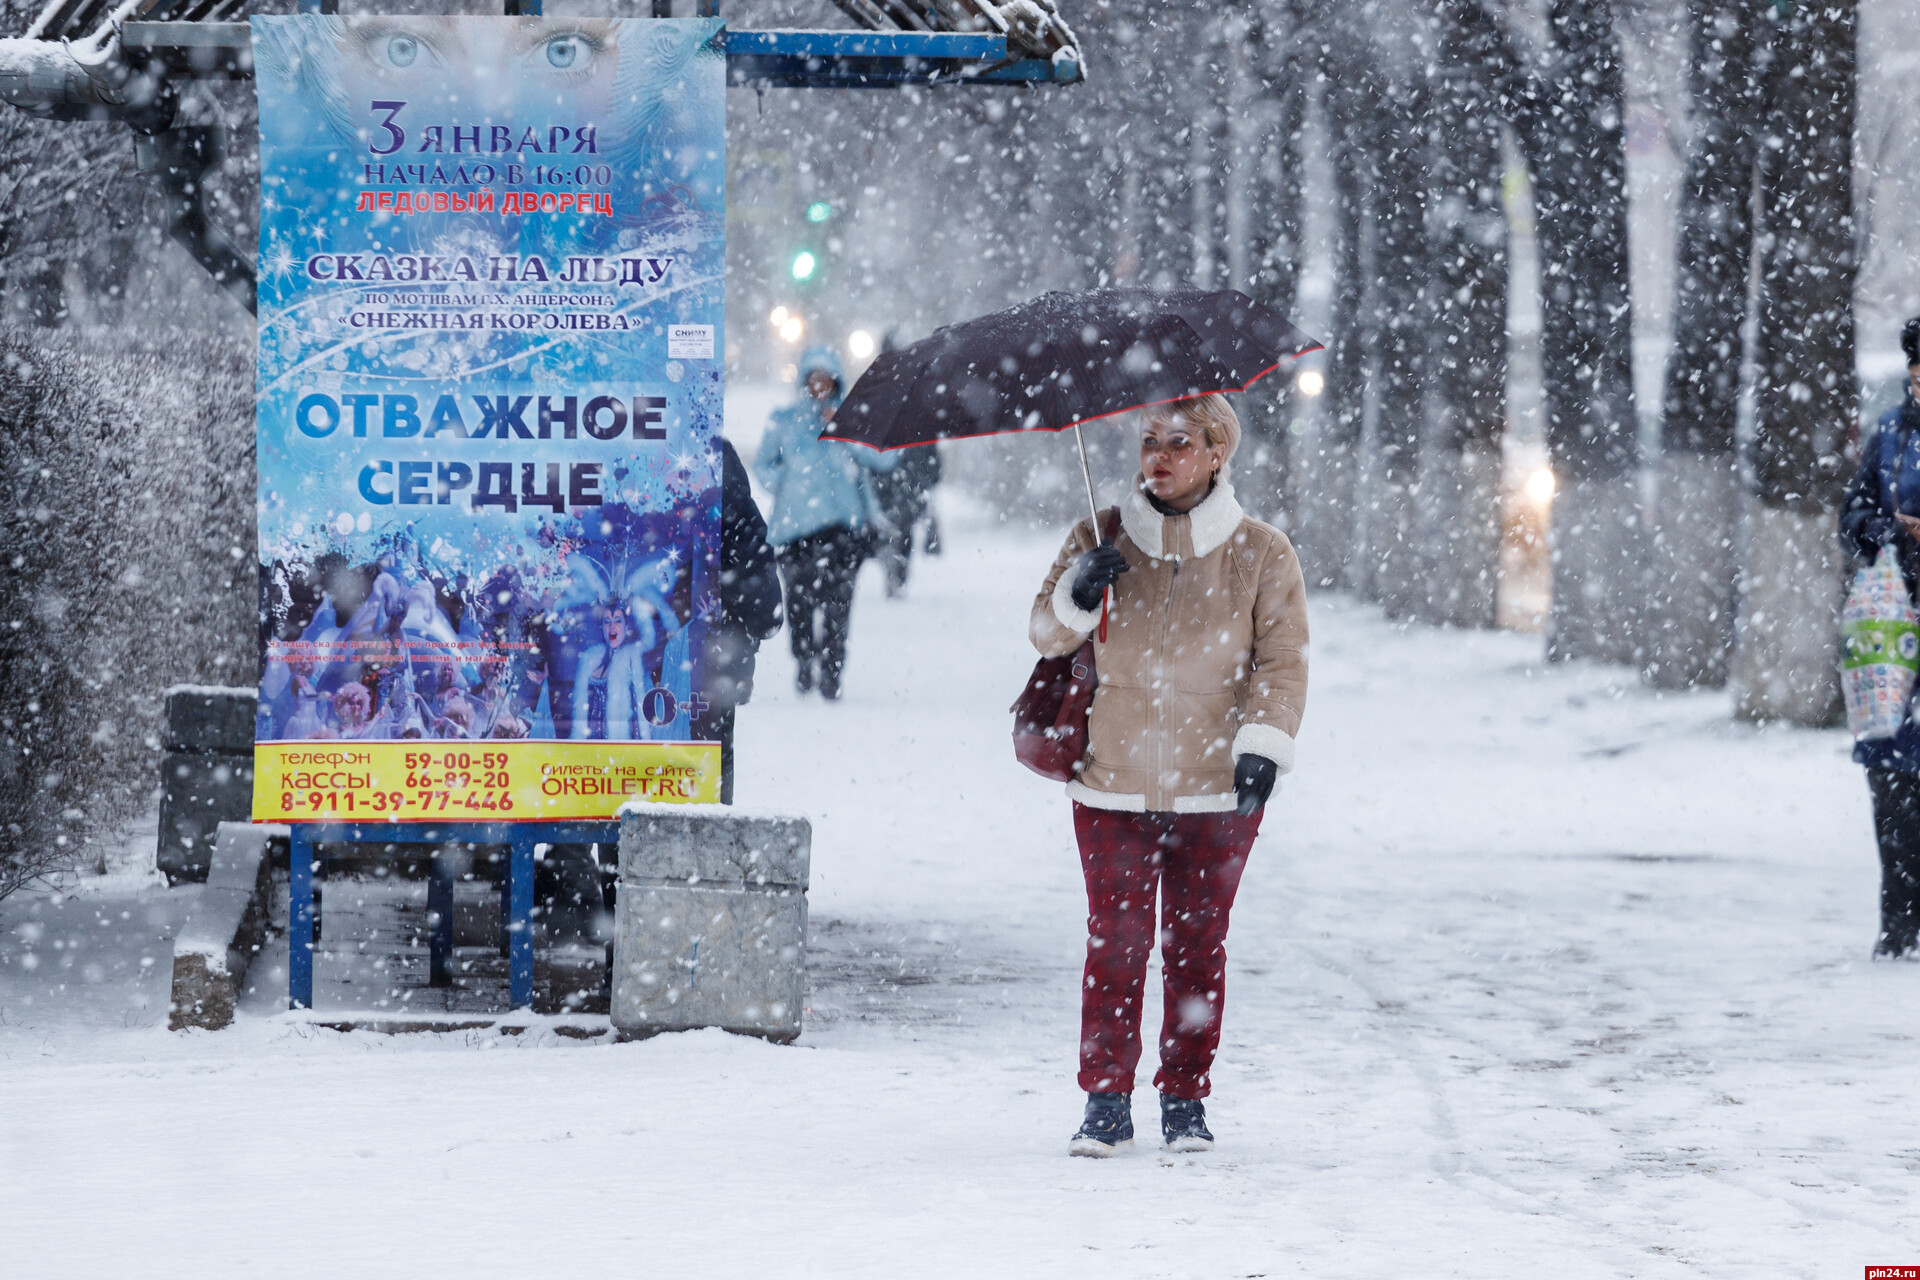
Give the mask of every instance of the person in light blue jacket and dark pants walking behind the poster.
[{"label": "person in light blue jacket and dark pants walking behind the poster", "polygon": [[801,693],[841,695],[847,628],[860,560],[872,549],[879,503],[868,476],[889,472],[899,457],[837,439],[820,439],[843,397],[839,357],[810,347],[799,363],[801,395],[760,439],[753,470],[774,499],[766,541],[787,583],[787,635]]}]

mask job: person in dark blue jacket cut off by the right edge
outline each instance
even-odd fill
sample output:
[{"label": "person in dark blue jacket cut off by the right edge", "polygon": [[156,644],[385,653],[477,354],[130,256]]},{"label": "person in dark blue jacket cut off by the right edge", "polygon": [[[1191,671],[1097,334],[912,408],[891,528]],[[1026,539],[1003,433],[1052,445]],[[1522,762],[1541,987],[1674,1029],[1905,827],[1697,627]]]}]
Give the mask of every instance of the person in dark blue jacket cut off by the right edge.
[{"label": "person in dark blue jacket cut off by the right edge", "polygon": [[[1839,505],[1839,541],[1860,562],[1893,547],[1907,593],[1920,601],[1920,317],[1901,330],[1907,395],[1880,418]],[[1908,710],[1899,733],[1853,745],[1866,766],[1880,841],[1880,936],[1874,956],[1920,948],[1920,723]]]}]

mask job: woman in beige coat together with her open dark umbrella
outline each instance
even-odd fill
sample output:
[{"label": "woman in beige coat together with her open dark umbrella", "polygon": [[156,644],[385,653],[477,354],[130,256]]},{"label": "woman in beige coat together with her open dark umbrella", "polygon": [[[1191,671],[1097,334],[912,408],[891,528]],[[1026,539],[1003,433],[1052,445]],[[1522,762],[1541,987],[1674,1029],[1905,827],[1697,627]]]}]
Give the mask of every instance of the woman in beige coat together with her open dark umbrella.
[{"label": "woman in beige coat together with her open dark umbrella", "polygon": [[[1089,904],[1075,1155],[1133,1142],[1156,892],[1160,1126],[1175,1151],[1213,1146],[1200,1100],[1219,1048],[1227,913],[1275,779],[1292,768],[1308,693],[1300,564],[1284,533],[1233,501],[1240,420],[1223,391],[1317,347],[1235,290],[1043,294],[881,355],[835,415],[835,439],[874,449],[1069,428],[1079,447],[1091,516],[1054,558],[1029,626],[1046,658],[1071,662],[1092,637],[1098,670],[1089,750],[1068,783]],[[1140,474],[1100,512],[1081,426],[1131,411],[1144,411]]]}]

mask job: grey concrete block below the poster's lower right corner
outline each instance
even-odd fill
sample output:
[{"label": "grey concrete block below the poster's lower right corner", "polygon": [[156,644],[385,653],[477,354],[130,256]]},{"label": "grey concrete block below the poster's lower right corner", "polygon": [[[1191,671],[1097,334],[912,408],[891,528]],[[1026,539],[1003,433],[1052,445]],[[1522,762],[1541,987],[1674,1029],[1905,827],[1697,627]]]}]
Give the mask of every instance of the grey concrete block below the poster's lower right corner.
[{"label": "grey concrete block below the poster's lower right corner", "polygon": [[612,1025],[622,1038],[720,1027],[801,1034],[804,818],[722,806],[620,810]]}]

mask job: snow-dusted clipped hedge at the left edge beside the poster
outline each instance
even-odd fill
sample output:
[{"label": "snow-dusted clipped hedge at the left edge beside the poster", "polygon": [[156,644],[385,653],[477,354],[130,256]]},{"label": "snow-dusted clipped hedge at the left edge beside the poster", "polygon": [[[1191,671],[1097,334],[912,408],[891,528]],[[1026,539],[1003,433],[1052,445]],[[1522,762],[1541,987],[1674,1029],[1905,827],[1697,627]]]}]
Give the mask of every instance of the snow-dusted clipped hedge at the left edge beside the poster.
[{"label": "snow-dusted clipped hedge at the left edge beside the poster", "polygon": [[152,802],[161,691],[255,676],[248,344],[0,328],[0,898]]}]

